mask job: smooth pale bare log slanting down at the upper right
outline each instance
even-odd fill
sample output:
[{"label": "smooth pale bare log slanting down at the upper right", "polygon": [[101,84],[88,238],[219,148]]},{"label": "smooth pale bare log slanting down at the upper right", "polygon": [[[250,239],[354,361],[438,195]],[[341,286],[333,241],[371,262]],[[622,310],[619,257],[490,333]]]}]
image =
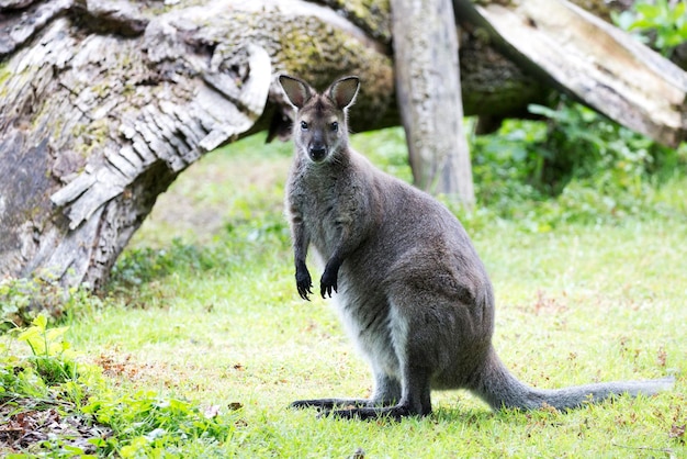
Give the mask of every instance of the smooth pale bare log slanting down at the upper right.
[{"label": "smooth pale bare log slanting down at the upper right", "polygon": [[685,138],[687,74],[624,32],[565,0],[453,2],[541,80],[656,142]]}]

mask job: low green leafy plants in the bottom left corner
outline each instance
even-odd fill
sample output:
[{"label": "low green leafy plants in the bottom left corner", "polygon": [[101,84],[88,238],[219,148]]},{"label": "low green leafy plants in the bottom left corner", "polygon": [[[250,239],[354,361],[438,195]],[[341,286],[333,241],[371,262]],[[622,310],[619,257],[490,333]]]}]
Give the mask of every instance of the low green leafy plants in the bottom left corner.
[{"label": "low green leafy plants in the bottom left corner", "polygon": [[[45,437],[43,443],[26,445],[32,451],[50,451],[53,457],[95,451],[150,457],[180,450],[185,443],[212,447],[234,432],[234,408],[225,410],[226,414],[216,406],[202,410],[153,391],[121,394],[103,379],[99,367],[82,365],[77,371],[75,352],[65,340],[67,329],[49,328],[41,314],[30,327],[15,332],[14,339],[0,345],[0,406],[16,405],[7,418],[0,412],[0,421],[23,436]],[[12,343],[26,344],[32,355],[14,355]],[[43,432],[45,417],[52,418],[55,432],[50,435]],[[68,435],[63,438],[60,432]]]}]

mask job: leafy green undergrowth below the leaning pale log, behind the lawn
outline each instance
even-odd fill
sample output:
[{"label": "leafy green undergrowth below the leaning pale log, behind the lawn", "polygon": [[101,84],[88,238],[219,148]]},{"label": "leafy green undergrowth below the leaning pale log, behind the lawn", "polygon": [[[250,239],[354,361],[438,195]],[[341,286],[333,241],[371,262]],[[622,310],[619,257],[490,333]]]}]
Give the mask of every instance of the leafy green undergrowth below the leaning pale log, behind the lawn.
[{"label": "leafy green undergrowth below the leaning pale log, behind the lawn", "polygon": [[[683,176],[687,144],[664,147],[565,99],[529,110],[543,121],[507,120],[497,133],[473,138],[480,213],[548,232],[684,209],[661,188]],[[474,228],[480,213],[461,217]]]}]

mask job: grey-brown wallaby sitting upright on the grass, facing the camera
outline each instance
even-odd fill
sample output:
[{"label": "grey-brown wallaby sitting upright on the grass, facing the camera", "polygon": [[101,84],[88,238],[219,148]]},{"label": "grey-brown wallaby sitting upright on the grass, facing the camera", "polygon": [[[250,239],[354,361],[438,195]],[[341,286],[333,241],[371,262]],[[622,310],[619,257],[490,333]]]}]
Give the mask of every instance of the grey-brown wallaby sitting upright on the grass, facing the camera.
[{"label": "grey-brown wallaby sitting upright on the grass, facing the camera", "polygon": [[466,389],[494,410],[566,410],[672,387],[672,379],[661,379],[540,390],[518,381],[492,346],[492,284],[458,219],[349,146],[347,109],[359,79],[338,79],[322,94],[293,77],[279,81],[296,109],[285,198],[296,288],[308,300],[312,245],[324,261],[320,294],[337,292],[341,320],[374,377],[369,400],[292,406],[402,418],[431,413],[431,389]]}]

